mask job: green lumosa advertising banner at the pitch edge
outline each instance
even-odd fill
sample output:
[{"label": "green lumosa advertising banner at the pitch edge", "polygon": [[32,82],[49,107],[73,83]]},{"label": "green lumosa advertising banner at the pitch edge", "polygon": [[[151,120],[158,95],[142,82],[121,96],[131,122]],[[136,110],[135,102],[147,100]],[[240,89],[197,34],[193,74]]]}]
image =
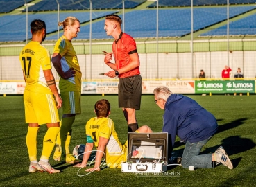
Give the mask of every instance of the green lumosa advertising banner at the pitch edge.
[{"label": "green lumosa advertising banner at the pitch edge", "polygon": [[254,80],[195,81],[195,93],[255,93]]}]

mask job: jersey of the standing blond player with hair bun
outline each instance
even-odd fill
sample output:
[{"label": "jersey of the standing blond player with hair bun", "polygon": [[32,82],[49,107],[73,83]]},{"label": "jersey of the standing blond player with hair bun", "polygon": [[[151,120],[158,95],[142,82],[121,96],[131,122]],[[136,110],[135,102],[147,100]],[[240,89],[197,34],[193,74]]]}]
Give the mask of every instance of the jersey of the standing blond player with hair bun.
[{"label": "jersey of the standing blond player with hair bun", "polygon": [[75,76],[67,80],[60,77],[60,92],[81,91],[82,73],[72,43],[65,36],[60,37],[56,42],[53,53],[59,53],[62,56],[60,62],[64,72],[70,68],[74,68],[74,71],[76,71]]}]

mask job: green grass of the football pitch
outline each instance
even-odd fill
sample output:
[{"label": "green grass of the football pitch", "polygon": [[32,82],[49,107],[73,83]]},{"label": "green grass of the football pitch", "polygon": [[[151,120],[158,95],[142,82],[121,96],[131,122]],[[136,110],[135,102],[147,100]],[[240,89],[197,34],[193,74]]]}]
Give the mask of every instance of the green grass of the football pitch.
[{"label": "green grass of the football pitch", "polygon": [[[179,177],[141,176],[122,173],[121,169],[106,168],[78,177],[78,168],[61,164],[50,158],[60,174],[29,173],[26,150],[27,125],[24,122],[22,96],[0,96],[0,186],[255,186],[256,143],[256,95],[253,96],[194,96],[189,97],[212,112],[219,123],[219,131],[205,145],[202,152],[214,152],[223,145],[234,165],[233,170],[225,166],[214,169],[189,171],[181,166],[169,168]],[[111,104],[111,115],[119,139],[127,138],[126,121],[117,105],[117,96],[82,96],[81,115],[76,116],[70,148],[85,143],[85,123],[94,116],[96,100],[106,98]],[[182,107],[182,106],[180,106]],[[139,125],[149,125],[154,132],[162,130],[163,110],[154,103],[153,95],[142,96],[142,108],[137,111]],[[42,151],[42,139],[46,126],[42,125],[38,135],[38,159]],[[174,152],[181,156],[184,145],[178,143]],[[84,174],[82,172],[80,174]]]}]

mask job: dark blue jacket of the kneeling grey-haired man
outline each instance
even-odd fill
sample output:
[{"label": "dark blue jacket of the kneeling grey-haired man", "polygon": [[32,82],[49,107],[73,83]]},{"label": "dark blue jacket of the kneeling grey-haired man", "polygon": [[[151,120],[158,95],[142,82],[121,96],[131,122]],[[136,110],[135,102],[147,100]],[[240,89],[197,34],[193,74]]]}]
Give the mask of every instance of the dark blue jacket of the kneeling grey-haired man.
[{"label": "dark blue jacket of the kneeling grey-haired man", "polygon": [[201,107],[195,100],[171,94],[164,107],[164,126],[162,132],[171,135],[174,145],[176,135],[191,143],[203,141],[218,130],[216,118]]}]

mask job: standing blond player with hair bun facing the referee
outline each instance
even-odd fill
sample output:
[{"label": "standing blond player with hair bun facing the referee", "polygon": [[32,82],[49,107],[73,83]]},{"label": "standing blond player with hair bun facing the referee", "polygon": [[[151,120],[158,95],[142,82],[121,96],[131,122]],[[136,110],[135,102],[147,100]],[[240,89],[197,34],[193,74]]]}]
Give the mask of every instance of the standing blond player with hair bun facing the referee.
[{"label": "standing blond player with hair bun facing the referee", "polygon": [[76,17],[67,17],[64,21],[59,22],[59,26],[63,26],[64,34],[56,42],[51,61],[60,76],[59,89],[63,100],[63,115],[53,159],[74,163],[76,158],[69,153],[69,143],[75,116],[81,113],[82,73],[71,40],[76,38],[80,32],[80,21]]}]

